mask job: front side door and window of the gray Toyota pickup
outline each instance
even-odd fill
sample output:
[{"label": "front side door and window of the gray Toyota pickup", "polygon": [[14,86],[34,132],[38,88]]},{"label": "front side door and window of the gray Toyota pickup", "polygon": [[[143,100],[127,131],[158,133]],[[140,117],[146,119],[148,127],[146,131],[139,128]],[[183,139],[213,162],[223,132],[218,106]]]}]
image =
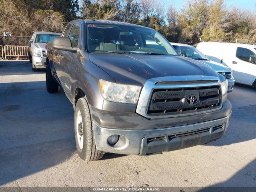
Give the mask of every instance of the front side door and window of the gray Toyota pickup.
[{"label": "front side door and window of the gray Toyota pickup", "polygon": [[[78,48],[80,46],[80,31],[81,26],[79,23],[74,23],[68,38],[70,39],[72,48]],[[74,77],[76,76],[76,64],[78,62],[78,52],[71,51],[62,51],[62,60],[63,65],[63,84],[64,89],[66,90],[66,95],[71,101],[72,99],[72,83],[75,81]]]}]

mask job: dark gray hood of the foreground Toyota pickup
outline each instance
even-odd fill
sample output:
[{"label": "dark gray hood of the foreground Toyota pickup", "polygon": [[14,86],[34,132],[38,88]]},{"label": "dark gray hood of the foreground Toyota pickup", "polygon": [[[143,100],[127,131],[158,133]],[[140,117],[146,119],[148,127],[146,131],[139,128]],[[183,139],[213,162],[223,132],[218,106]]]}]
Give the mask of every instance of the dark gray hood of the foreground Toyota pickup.
[{"label": "dark gray hood of the foreground Toyota pickup", "polygon": [[218,77],[209,66],[181,56],[90,53],[89,59],[122,84],[144,85],[148,79],[164,76]]}]

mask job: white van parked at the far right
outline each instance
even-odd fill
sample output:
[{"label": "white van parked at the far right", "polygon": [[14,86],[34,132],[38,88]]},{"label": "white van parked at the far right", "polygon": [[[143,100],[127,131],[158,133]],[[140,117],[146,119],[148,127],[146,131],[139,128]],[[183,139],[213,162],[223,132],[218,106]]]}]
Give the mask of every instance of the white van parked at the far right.
[{"label": "white van parked at the far right", "polygon": [[236,82],[256,88],[256,45],[200,42],[196,48],[210,60],[229,66]]}]

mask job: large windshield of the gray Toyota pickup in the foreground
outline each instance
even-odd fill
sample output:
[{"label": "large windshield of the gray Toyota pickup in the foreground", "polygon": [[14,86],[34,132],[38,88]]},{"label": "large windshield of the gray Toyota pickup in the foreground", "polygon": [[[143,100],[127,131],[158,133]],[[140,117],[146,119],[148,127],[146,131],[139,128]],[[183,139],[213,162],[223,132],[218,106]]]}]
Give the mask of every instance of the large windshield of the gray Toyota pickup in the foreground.
[{"label": "large windshield of the gray Toyota pickup in the foreground", "polygon": [[87,24],[89,52],[178,55],[169,42],[152,29],[118,24]]}]

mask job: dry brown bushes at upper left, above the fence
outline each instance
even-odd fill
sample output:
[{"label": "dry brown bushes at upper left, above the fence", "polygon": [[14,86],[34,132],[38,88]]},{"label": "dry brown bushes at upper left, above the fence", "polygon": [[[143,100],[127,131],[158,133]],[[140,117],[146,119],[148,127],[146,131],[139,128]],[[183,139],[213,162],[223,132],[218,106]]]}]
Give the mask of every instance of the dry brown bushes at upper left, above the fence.
[{"label": "dry brown bushes at upper left, above the fence", "polygon": [[64,16],[59,12],[34,10],[14,0],[1,0],[0,13],[1,34],[8,31],[14,36],[31,36],[36,30],[61,32],[64,24]]}]

